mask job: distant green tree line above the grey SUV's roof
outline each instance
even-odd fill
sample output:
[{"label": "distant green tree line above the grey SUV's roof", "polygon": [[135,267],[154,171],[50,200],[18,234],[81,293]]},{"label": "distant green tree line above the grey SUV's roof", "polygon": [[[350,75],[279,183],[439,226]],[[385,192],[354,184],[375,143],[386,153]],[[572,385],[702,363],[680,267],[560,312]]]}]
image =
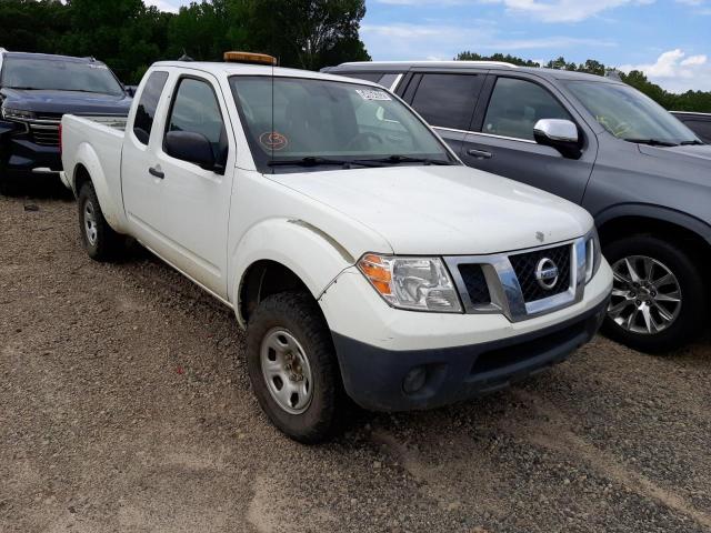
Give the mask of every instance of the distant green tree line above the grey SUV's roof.
[{"label": "distant green tree line above the grey SUV's roof", "polygon": [[632,86],[637,90],[643,92],[662,107],[674,111],[698,111],[711,112],[711,91],[687,91],[681,94],[669,92],[655,83],[649,81],[644,72],[632,70],[630,72],[621,72],[615,69],[605,67],[600,61],[589,59],[583,63],[574,63],[565,61],[560,57],[552,59],[548,63],[540,64],[530,59],[522,59],[515,56],[494,53],[492,56],[480,56],[474,52],[461,52],[454,58],[457,60],[470,61],[505,61],[518,64],[519,67],[543,67],[547,69],[572,70],[575,72],[587,72],[589,74],[605,76],[612,73],[618,76],[624,83]]}]

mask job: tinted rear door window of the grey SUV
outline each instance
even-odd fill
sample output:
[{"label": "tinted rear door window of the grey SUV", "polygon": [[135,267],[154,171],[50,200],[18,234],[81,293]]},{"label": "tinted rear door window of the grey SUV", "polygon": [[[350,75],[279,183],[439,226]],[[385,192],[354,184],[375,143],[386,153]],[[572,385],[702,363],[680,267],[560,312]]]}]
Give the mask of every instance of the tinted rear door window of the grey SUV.
[{"label": "tinted rear door window of the grey SUV", "polygon": [[468,130],[483,79],[474,73],[424,73],[412,107],[433,127]]}]

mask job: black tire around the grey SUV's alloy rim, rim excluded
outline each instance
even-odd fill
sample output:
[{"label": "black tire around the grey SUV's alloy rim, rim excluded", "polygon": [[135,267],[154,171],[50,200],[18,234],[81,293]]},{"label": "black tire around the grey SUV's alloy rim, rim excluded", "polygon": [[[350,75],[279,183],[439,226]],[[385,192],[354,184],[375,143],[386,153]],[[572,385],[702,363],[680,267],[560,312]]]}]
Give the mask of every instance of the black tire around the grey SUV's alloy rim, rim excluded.
[{"label": "black tire around the grey SUV's alloy rim, rim excluded", "polygon": [[[701,261],[692,252],[669,240],[638,234],[609,243],[603,254],[612,266],[624,258],[635,255],[659,261],[677,278],[681,290],[681,304],[675,311],[678,314],[665,329],[655,333],[638,333],[618,324],[608,314],[602,324],[602,332],[607,336],[640,352],[664,353],[684,345],[701,331],[708,316],[709,290],[701,275]],[[613,295],[610,305],[614,303]],[[675,310],[675,306],[667,309]]]}]

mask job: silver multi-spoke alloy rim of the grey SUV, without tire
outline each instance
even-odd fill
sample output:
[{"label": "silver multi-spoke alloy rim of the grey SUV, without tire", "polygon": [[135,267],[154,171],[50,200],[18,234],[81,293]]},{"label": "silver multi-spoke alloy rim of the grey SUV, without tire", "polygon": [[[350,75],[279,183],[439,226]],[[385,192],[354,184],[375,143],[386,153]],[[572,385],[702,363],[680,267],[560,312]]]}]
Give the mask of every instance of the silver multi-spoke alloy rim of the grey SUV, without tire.
[{"label": "silver multi-spoke alloy rim of the grey SUV, without tire", "polygon": [[630,255],[617,261],[612,273],[608,316],[620,328],[652,335],[677,320],[681,286],[667,265],[645,255]]}]

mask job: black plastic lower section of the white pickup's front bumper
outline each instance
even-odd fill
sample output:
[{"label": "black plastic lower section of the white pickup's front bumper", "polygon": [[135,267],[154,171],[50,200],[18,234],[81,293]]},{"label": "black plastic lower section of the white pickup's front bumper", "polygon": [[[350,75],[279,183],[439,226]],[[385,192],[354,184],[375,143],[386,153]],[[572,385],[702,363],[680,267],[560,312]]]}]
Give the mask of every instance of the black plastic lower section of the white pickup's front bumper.
[{"label": "black plastic lower section of the white pickup's front bumper", "polygon": [[[390,351],[333,333],[348,394],[372,411],[431,409],[488,394],[568,359],[597,333],[607,300],[560,324],[500,341],[467,346]],[[415,368],[424,384],[405,393]]]}]

